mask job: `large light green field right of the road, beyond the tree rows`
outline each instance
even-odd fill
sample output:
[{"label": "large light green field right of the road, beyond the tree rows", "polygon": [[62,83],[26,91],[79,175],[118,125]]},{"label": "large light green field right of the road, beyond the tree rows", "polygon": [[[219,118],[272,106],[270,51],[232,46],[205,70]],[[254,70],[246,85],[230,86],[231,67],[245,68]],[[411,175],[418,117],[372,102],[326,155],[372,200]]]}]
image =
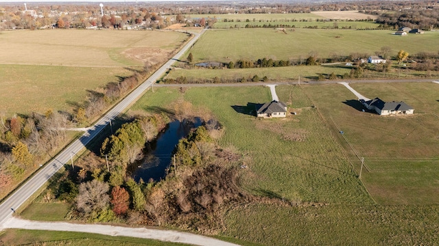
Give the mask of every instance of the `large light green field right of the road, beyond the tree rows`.
[{"label": "large light green field right of the road, beyond the tree rows", "polygon": [[[410,54],[439,50],[438,32],[423,35],[395,36],[388,30],[296,29],[213,29],[190,49],[193,61],[228,62],[237,59],[307,59],[366,53],[374,55],[390,46],[396,55],[401,49]],[[221,40],[221,42],[218,42]]]}]

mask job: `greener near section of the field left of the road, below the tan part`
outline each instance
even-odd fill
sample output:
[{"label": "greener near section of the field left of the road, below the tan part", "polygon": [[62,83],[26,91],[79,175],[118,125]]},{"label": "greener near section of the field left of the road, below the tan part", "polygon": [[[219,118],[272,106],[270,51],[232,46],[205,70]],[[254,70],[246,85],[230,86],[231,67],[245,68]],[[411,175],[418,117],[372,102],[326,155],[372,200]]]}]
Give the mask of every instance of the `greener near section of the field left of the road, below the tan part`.
[{"label": "greener near section of the field left of the road, below the tan part", "polygon": [[9,116],[48,109],[70,111],[85,100],[87,90],[130,74],[124,68],[0,65],[0,111]]}]

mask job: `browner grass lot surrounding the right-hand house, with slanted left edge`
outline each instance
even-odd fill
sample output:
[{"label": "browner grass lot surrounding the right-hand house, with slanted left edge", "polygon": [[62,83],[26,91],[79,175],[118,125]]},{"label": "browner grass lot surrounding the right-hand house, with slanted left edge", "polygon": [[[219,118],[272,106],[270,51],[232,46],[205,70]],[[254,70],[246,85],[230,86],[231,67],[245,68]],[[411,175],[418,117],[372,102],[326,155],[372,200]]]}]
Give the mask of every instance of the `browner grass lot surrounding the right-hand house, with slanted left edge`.
[{"label": "browner grass lot surrounding the right-hand house, with slanted left edge", "polygon": [[[434,83],[353,83],[360,94],[385,101],[403,100],[414,115],[379,116],[362,112],[357,98],[342,85],[304,86],[323,117],[332,122],[362,180],[379,204],[438,204],[439,105]],[[337,96],[334,96],[337,95]],[[340,135],[340,134],[339,134]],[[343,143],[344,142],[344,143]],[[357,156],[355,156],[355,154]]]}]

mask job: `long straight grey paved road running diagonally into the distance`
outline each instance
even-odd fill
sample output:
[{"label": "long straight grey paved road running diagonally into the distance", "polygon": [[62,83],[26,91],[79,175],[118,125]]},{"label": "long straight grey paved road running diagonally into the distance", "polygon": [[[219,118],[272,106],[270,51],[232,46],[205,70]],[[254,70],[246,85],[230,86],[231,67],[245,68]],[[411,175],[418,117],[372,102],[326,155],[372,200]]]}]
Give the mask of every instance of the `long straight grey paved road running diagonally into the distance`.
[{"label": "long straight grey paved road running diagonally into the distance", "polygon": [[52,159],[47,165],[42,167],[32,178],[29,178],[27,182],[21,185],[19,189],[16,189],[7,199],[0,204],[0,228],[8,217],[12,215],[13,210],[19,208],[29,197],[34,194],[51,176],[56,174],[58,170],[64,164],[70,164],[71,156],[75,156],[80,152],[86,144],[91,141],[96,135],[98,135],[102,129],[104,129],[110,120],[114,119],[117,115],[125,111],[133,102],[136,102],[139,97],[147,90],[152,83],[156,83],[157,79],[161,77],[167,69],[170,68],[174,62],[185,53],[193,43],[204,33],[205,29],[201,33],[193,33],[193,37],[174,57],[169,59],[166,64],[159,68],[150,78],[144,81],[136,90],[131,92],[126,98],[123,98],[115,107],[110,109],[101,119],[99,119],[94,126],[88,128],[88,131],[84,133],[79,139],[73,141],[67,148],[60,152],[54,159]]}]

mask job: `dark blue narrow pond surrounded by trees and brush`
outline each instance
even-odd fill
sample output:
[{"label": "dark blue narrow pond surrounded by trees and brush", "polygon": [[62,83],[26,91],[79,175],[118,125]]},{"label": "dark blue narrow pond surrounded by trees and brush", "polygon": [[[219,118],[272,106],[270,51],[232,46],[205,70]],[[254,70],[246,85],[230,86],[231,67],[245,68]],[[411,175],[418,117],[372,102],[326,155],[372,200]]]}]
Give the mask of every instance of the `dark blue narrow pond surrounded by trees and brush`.
[{"label": "dark blue narrow pond surrounded by trees and brush", "polygon": [[171,164],[171,154],[178,141],[191,132],[191,128],[201,126],[200,118],[195,118],[194,122],[185,120],[183,123],[178,120],[171,122],[165,131],[158,135],[158,138],[150,143],[150,148],[144,153],[145,157],[130,165],[129,172],[136,182],[142,178],[148,182],[161,180],[166,176],[166,169]]}]

